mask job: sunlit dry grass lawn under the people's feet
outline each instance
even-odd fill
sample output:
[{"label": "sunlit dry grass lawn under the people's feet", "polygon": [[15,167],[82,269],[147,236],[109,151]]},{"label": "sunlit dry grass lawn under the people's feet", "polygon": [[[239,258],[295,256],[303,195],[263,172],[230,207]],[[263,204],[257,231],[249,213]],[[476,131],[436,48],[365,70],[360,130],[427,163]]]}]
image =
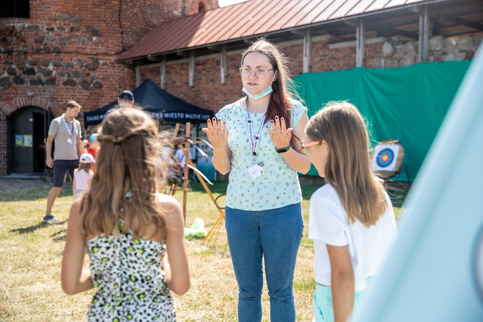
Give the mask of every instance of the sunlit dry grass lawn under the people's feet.
[{"label": "sunlit dry grass lawn under the people's feet", "polygon": [[[226,183],[215,183],[215,197],[226,192]],[[188,193],[187,226],[200,217],[209,230],[218,212],[200,184],[191,185]],[[294,276],[297,320],[312,320],[313,280],[312,241],[307,239],[308,199],[318,186],[303,186],[305,229]],[[0,191],[0,321],[83,321],[94,290],[75,296],[64,294],[60,285],[62,252],[70,205],[71,187],[66,185],[55,201],[52,213],[63,219],[43,223],[49,188]],[[175,197],[182,202],[182,192]],[[402,203],[395,194],[395,205]],[[396,208],[396,215],[400,208]],[[224,225],[223,225],[224,229]],[[190,261],[191,289],[176,296],[175,307],[180,321],[236,320],[237,285],[226,234],[215,245],[201,244],[200,239],[186,241]],[[88,267],[88,259],[85,260]],[[269,320],[269,299],[264,287],[263,320]]]}]

